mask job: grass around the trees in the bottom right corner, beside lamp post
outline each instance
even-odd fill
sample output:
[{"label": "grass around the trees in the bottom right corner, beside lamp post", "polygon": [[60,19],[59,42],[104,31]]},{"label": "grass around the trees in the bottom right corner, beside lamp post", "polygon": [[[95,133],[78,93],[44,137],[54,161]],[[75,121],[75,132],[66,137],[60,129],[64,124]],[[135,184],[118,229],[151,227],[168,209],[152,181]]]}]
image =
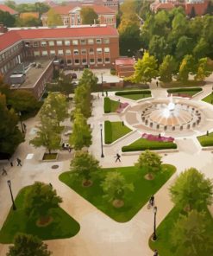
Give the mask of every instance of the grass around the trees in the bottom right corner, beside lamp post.
[{"label": "grass around the trees in the bottom right corner, beside lamp post", "polygon": [[[172,227],[176,221],[179,219],[180,209],[178,207],[172,208],[171,212],[167,214],[164,221],[160,223],[160,226],[156,230],[157,234],[157,240],[153,242],[153,240],[149,240],[149,246],[154,250],[157,249],[159,255],[161,256],[171,256],[175,253],[175,248],[172,247],[171,241],[170,241],[170,232],[172,230]],[[182,213],[184,214],[184,213]],[[210,225],[210,228],[207,230],[207,232],[210,234],[210,237],[213,237],[213,219],[210,215],[210,212],[206,210],[206,216],[207,220],[212,223]],[[151,234],[150,234],[151,235]],[[178,234],[177,234],[178,235]],[[184,254],[182,254],[185,256]],[[212,255],[212,252],[205,255]],[[192,256],[192,255],[191,255]],[[203,255],[197,255],[197,256],[203,256]]]}]

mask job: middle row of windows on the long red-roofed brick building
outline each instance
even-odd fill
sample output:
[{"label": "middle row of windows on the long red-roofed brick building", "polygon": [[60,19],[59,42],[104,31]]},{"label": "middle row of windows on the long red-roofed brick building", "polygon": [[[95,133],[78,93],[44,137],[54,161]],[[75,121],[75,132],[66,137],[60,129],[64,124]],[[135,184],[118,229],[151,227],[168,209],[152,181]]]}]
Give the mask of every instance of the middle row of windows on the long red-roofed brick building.
[{"label": "middle row of windows on the long red-roofed brick building", "polygon": [[[110,53],[110,48],[97,48],[97,54],[102,54],[104,51],[104,53],[106,54],[109,54]],[[94,54],[94,49],[93,48],[90,48],[89,49],[89,54]],[[62,50],[62,49],[59,49],[58,51],[55,51],[55,50],[50,50],[49,51],[49,54],[50,55],[71,55],[72,54],[72,51],[70,49],[66,49],[66,50]],[[73,50],[73,55],[78,55],[79,54],[79,50],[78,49],[74,49]],[[81,49],[81,54],[87,54],[87,50],[86,49]],[[34,51],[34,55],[35,56],[40,56],[40,51]],[[47,56],[48,55],[48,51],[41,51],[41,55],[42,56]]]}]

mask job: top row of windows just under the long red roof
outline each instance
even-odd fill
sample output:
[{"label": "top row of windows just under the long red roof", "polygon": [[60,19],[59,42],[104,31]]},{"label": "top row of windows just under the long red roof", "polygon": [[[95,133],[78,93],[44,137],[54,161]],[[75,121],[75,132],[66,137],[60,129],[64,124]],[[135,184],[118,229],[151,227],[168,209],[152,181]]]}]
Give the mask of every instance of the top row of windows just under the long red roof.
[{"label": "top row of windows just under the long red roof", "polygon": [[[85,44],[94,44],[94,43],[97,43],[97,44],[101,44],[101,43],[110,43],[110,39],[109,38],[98,38],[98,39],[81,39],[81,40],[78,40],[78,39],[75,39],[75,40],[65,40],[65,41],[62,41],[62,40],[58,40],[58,41],[41,41],[41,42],[33,42],[33,46],[34,47],[46,47],[47,44],[49,46],[62,46],[62,45],[65,45],[65,46],[70,46],[70,45],[78,45],[78,44],[81,44],[81,45],[85,45]],[[28,42],[26,42],[25,44],[28,45]]]}]

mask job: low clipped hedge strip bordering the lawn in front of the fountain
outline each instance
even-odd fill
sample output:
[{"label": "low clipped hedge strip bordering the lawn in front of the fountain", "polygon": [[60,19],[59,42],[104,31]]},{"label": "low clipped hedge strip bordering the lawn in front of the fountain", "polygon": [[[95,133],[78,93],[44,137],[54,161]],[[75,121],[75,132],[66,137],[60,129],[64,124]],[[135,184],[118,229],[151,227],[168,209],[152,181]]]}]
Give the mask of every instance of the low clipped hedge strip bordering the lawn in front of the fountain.
[{"label": "low clipped hedge strip bordering the lawn in front of the fountain", "polygon": [[128,145],[122,147],[122,152],[129,152],[129,151],[141,151],[141,150],[166,150],[166,149],[177,149],[177,144],[172,142],[165,142],[160,144],[144,144],[144,145]]}]

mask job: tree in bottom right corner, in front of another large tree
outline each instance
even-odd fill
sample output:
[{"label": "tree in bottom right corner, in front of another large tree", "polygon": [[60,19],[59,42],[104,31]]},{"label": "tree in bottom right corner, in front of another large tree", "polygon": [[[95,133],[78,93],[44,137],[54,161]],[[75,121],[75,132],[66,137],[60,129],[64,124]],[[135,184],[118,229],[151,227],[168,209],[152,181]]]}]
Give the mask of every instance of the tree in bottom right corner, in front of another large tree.
[{"label": "tree in bottom right corner, in front of another large tree", "polygon": [[206,221],[205,212],[192,210],[188,215],[180,215],[171,232],[174,255],[198,256],[213,252],[212,236],[207,232],[211,225]]}]

